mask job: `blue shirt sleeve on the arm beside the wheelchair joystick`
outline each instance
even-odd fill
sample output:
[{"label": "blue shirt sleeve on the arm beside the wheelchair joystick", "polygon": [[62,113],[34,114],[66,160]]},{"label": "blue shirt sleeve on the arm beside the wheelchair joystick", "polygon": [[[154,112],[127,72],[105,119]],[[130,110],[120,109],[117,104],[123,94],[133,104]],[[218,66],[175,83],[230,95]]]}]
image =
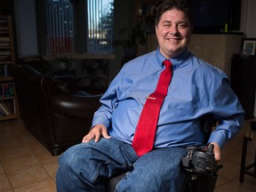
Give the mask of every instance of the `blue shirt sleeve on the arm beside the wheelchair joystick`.
[{"label": "blue shirt sleeve on the arm beside the wheelchair joystick", "polygon": [[220,148],[231,140],[244,124],[244,109],[235,92],[228,84],[228,77],[223,77],[215,92],[214,117],[218,124],[212,132],[210,142],[216,142]]}]

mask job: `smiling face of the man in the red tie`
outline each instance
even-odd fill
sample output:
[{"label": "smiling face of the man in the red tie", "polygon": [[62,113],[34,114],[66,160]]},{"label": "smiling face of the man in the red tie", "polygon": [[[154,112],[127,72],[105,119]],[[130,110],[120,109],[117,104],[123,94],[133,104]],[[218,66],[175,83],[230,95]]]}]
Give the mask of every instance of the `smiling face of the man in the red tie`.
[{"label": "smiling face of the man in the red tie", "polygon": [[164,12],[156,26],[156,38],[166,59],[179,55],[188,47],[191,31],[184,12],[176,9]]}]

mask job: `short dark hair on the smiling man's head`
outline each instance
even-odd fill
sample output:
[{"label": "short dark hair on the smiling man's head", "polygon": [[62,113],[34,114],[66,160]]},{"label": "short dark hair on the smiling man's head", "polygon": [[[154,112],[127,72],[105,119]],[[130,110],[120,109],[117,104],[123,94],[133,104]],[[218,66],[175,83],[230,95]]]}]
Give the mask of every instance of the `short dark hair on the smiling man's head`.
[{"label": "short dark hair on the smiling man's head", "polygon": [[188,0],[164,0],[157,6],[156,9],[156,26],[161,20],[161,17],[164,14],[164,12],[167,12],[172,9],[177,9],[181,12],[184,12],[186,17],[188,18],[188,22],[192,25],[192,14]]}]

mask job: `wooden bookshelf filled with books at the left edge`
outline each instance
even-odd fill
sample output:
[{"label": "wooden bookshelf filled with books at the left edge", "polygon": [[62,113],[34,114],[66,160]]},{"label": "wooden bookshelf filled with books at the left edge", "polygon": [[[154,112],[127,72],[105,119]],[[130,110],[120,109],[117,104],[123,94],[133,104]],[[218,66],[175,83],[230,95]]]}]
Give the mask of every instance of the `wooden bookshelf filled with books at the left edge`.
[{"label": "wooden bookshelf filled with books at the left edge", "polygon": [[0,14],[0,121],[18,117],[15,86],[9,71],[14,64],[12,17]]}]

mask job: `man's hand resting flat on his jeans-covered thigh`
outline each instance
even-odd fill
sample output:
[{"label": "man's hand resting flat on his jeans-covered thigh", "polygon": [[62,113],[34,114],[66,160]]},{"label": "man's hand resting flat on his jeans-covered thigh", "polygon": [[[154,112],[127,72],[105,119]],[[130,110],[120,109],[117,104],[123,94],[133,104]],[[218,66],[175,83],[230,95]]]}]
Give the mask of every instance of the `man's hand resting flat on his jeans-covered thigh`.
[{"label": "man's hand resting flat on his jeans-covered thigh", "polygon": [[89,142],[94,138],[95,138],[95,142],[98,142],[101,136],[106,139],[111,138],[108,135],[107,127],[104,124],[97,124],[92,128],[92,130],[87,135],[84,136],[82,142]]}]

